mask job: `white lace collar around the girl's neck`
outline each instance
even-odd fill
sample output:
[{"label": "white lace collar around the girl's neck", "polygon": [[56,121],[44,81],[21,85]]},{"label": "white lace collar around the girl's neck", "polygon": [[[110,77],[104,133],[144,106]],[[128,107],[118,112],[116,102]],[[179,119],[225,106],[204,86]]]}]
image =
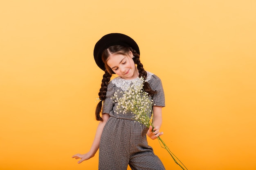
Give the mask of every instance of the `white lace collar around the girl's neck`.
[{"label": "white lace collar around the girl's neck", "polygon": [[[146,81],[149,81],[152,77],[153,73],[147,72],[147,79]],[[117,87],[120,87],[122,90],[126,91],[131,83],[138,82],[139,77],[132,79],[132,80],[125,80],[124,78],[121,78],[120,76],[114,78],[111,82],[115,84]]]}]

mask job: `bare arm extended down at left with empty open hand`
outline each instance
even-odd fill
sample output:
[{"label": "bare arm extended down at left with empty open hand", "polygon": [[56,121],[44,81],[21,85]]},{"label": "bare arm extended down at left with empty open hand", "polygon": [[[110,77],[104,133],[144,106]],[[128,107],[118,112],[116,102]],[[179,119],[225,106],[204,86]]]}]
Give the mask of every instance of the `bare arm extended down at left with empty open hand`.
[{"label": "bare arm extended down at left with empty open hand", "polygon": [[92,142],[92,146],[91,146],[91,149],[88,153],[85,153],[85,154],[76,154],[76,155],[73,155],[72,158],[75,158],[75,159],[79,159],[80,160],[77,162],[77,163],[81,163],[85,160],[88,160],[92,157],[94,157],[95,153],[97,152],[97,150],[99,149],[99,142],[100,142],[100,139],[101,139],[101,133],[103,131],[103,128],[108,120],[108,118],[110,117],[109,114],[107,113],[104,113],[102,114],[102,121],[99,122],[99,125],[97,127],[97,130],[96,130],[96,134],[95,134],[95,137],[94,137],[94,140]]}]

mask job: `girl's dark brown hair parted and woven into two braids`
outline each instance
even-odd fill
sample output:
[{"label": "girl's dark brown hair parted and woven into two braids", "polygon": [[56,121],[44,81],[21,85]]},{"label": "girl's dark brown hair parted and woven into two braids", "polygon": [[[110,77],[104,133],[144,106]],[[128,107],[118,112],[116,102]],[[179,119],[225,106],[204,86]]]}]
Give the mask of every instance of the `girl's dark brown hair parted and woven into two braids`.
[{"label": "girl's dark brown hair parted and woven into two braids", "polygon": [[[130,47],[125,47],[125,46],[111,46],[105,50],[103,50],[102,52],[102,61],[105,64],[105,74],[103,74],[103,79],[101,81],[101,88],[99,90],[99,99],[101,100],[97,107],[96,107],[96,111],[95,111],[95,116],[96,116],[96,120],[102,120],[100,113],[101,113],[101,108],[102,108],[102,101],[106,99],[106,93],[107,93],[107,88],[108,88],[108,83],[110,81],[110,78],[112,76],[112,74],[114,73],[112,71],[112,69],[107,65],[107,61],[108,61],[108,57],[110,56],[110,54],[123,54],[123,55],[128,55],[129,51],[132,52],[134,58],[133,61],[135,64],[137,64],[137,68],[139,70],[139,77],[143,77],[144,80],[146,80],[147,78],[147,72],[144,70],[142,63],[139,60],[139,54],[137,54],[137,52],[135,50],[133,50]],[[157,92],[152,90],[148,84],[148,82],[144,82],[144,86],[143,89],[145,92],[148,92],[149,95],[153,95],[156,94]]]}]

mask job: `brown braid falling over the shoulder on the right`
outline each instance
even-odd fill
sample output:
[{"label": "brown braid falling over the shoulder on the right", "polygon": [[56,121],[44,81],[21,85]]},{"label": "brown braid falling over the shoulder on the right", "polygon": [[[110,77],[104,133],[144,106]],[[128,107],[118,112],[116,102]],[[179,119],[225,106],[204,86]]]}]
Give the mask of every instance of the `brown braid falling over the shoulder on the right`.
[{"label": "brown braid falling over the shoulder on the right", "polygon": [[[133,50],[132,48],[130,48],[130,51],[133,53],[133,60],[134,60],[134,63],[137,64],[137,68],[139,70],[139,77],[143,77],[144,80],[147,79],[147,72],[144,70],[143,68],[143,64],[140,62],[139,60],[139,54],[137,54],[137,52],[135,50]],[[148,82],[144,82],[144,86],[143,86],[143,89],[145,92],[148,92],[149,95],[153,95],[153,94],[156,94],[157,92],[152,90],[150,85],[148,84]]]}]

